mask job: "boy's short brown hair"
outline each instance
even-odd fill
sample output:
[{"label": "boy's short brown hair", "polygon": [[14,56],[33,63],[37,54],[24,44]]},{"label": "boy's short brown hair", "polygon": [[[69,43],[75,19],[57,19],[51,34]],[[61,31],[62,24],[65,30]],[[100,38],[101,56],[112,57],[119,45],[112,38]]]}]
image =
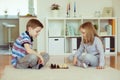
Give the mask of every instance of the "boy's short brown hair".
[{"label": "boy's short brown hair", "polygon": [[36,28],[36,27],[41,27],[43,28],[43,24],[37,20],[37,19],[30,19],[28,22],[27,22],[27,25],[26,25],[26,29],[28,30],[28,27],[31,27],[31,28]]}]

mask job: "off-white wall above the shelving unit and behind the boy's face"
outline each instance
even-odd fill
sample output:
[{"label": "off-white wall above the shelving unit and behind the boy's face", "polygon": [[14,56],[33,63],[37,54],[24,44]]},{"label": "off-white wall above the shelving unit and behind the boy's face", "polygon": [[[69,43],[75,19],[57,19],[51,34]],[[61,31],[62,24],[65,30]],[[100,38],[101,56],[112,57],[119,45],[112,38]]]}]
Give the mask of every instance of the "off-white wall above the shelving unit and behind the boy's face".
[{"label": "off-white wall above the shelving unit and behind the boy's face", "polygon": [[[60,5],[60,17],[66,16],[67,3],[70,1],[71,10],[73,10],[74,1],[77,5],[77,16],[93,17],[95,11],[101,11],[103,7],[111,7],[112,0],[37,0],[37,16],[45,26],[45,17],[51,16],[50,6],[53,3]],[[71,11],[71,15],[73,12]],[[45,28],[42,30],[37,38],[38,51],[45,51]]]}]

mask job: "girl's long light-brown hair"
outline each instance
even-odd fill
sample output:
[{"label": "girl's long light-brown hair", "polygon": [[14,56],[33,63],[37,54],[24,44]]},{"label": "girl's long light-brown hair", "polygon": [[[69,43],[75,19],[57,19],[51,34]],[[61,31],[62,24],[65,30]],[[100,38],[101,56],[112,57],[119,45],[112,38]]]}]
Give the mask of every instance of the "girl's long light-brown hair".
[{"label": "girl's long light-brown hair", "polygon": [[93,24],[91,22],[85,22],[85,23],[83,23],[80,26],[79,30],[80,29],[85,29],[85,31],[86,31],[86,39],[83,38],[83,42],[84,43],[93,44],[94,37],[95,36],[99,37],[98,34],[97,34],[97,32],[96,32],[95,27],[93,26]]}]

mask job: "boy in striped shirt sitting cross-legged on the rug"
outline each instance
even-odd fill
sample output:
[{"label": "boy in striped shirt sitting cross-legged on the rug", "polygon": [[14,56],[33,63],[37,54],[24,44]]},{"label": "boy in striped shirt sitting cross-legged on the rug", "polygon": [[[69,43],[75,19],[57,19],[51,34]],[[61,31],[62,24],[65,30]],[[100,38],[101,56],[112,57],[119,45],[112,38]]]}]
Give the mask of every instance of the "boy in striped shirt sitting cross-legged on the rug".
[{"label": "boy in striped shirt sitting cross-legged on the rug", "polygon": [[18,69],[40,69],[49,60],[47,53],[38,54],[32,49],[33,38],[36,38],[43,25],[37,19],[31,19],[26,25],[26,31],[14,42],[12,48],[12,65]]}]

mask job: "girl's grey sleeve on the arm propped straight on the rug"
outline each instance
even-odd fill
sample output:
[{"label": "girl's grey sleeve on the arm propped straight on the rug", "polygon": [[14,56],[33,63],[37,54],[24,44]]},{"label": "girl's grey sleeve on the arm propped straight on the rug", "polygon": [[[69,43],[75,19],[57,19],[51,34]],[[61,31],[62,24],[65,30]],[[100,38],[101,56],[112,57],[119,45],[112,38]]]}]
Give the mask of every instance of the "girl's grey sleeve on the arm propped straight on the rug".
[{"label": "girl's grey sleeve on the arm propped straight on the rug", "polygon": [[102,41],[97,38],[96,40],[96,45],[97,45],[97,50],[99,53],[99,66],[104,66],[105,65],[105,54],[104,54],[104,49],[103,49],[103,44]]}]

